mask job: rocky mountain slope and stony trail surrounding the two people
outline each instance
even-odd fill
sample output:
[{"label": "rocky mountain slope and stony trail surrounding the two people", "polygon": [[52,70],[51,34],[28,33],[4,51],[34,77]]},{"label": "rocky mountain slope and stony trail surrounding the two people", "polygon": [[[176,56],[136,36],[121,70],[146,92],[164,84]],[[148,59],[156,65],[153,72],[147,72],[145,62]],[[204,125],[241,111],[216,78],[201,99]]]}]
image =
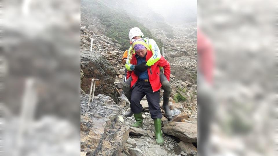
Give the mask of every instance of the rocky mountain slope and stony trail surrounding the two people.
[{"label": "rocky mountain slope and stony trail surrounding the two people", "polygon": [[[81,25],[81,155],[197,155],[196,27],[174,27],[173,39],[167,38],[164,31],[151,30],[163,41],[165,58],[171,65],[173,91],[169,107],[175,118],[170,122],[162,118],[165,142],[162,146],[156,144],[145,97],[141,101],[143,127],[128,126],[135,120],[133,116],[124,117],[130,109],[129,102],[121,98],[124,51],[119,50],[119,44],[96,31],[100,27],[99,23],[97,28]],[[162,53],[162,48],[160,51]],[[94,101],[87,108],[92,78],[99,81],[96,81]],[[163,90],[160,97],[162,94]],[[161,108],[162,102],[161,98]]]}]

